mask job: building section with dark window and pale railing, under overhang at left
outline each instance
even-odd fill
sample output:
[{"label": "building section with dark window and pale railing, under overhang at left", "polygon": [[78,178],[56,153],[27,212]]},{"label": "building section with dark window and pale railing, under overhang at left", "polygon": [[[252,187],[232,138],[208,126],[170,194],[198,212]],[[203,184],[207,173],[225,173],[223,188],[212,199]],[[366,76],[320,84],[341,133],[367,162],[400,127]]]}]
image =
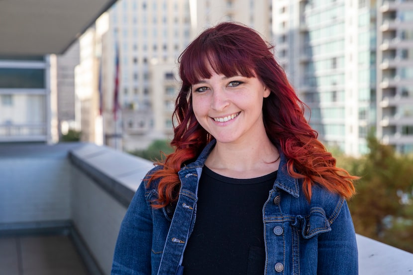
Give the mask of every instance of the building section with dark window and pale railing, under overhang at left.
[{"label": "building section with dark window and pale railing, under overhang at left", "polygon": [[0,56],[0,142],[58,139],[50,56]]}]

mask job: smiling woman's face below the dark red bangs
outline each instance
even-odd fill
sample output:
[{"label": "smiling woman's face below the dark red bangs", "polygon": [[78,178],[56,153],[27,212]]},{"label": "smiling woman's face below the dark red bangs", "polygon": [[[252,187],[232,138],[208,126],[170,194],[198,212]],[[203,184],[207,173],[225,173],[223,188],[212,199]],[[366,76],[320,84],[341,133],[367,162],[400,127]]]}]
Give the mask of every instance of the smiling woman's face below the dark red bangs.
[{"label": "smiling woman's face below the dark red bangs", "polygon": [[221,143],[253,144],[260,135],[266,135],[262,104],[269,95],[269,89],[257,78],[227,78],[213,71],[209,79],[192,85],[195,116]]}]

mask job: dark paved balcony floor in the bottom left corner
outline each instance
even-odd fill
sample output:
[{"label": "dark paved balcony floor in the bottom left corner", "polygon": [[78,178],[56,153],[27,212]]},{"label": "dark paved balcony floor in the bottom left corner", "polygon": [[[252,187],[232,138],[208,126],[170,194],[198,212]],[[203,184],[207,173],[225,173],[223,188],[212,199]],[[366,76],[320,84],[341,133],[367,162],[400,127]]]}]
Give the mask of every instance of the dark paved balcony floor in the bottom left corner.
[{"label": "dark paved balcony floor in the bottom left corner", "polygon": [[89,275],[68,236],[0,237],[0,275]]}]

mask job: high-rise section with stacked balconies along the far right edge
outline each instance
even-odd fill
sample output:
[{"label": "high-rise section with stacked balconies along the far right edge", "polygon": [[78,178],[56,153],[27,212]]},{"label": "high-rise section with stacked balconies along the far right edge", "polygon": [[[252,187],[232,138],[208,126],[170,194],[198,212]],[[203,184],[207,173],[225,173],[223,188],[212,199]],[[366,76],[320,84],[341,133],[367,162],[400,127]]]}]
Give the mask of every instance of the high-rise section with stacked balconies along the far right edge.
[{"label": "high-rise section with stacked balconies along the far right edge", "polygon": [[413,153],[413,1],[377,5],[377,134]]}]

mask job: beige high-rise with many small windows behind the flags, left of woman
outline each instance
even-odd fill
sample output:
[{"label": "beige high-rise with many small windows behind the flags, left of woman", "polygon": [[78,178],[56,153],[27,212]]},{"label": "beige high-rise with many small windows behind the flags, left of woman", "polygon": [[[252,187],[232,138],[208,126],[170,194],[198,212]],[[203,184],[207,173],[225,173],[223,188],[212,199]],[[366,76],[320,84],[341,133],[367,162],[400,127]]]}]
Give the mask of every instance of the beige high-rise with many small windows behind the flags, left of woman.
[{"label": "beige high-rise with many small windows behind the flags, left of woman", "polygon": [[[175,78],[166,87],[159,86],[162,80],[155,81],[156,87],[151,83],[158,68],[163,76],[175,76],[176,59],[190,40],[189,1],[119,0],[108,10],[106,22],[101,40],[105,143],[119,147],[122,139],[122,149],[143,149],[172,131],[165,122],[166,117],[172,121],[171,111],[155,110],[154,105],[173,103],[168,94],[175,95],[179,83]],[[116,57],[120,111],[114,120]]]}]

